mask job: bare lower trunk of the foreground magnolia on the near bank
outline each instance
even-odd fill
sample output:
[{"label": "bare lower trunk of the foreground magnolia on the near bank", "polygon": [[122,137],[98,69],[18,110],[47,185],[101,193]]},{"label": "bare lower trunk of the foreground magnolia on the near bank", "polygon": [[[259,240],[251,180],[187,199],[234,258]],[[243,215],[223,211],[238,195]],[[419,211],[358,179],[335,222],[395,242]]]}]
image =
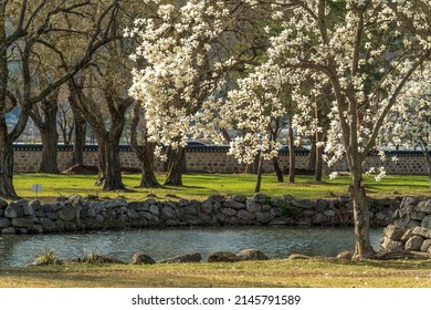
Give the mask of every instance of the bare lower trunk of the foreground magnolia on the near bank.
[{"label": "bare lower trunk of the foreground magnolia on the near bank", "polygon": [[360,166],[351,169],[353,185],[349,193],[354,203],[355,219],[355,255],[354,259],[364,259],[375,254],[369,241],[369,206],[365,193],[362,170]]}]

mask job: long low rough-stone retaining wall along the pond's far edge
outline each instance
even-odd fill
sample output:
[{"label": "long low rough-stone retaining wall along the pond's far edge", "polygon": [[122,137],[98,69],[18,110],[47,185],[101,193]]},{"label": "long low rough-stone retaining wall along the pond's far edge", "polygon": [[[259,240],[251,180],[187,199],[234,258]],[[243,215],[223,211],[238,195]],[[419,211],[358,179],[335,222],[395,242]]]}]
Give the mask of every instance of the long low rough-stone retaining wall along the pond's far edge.
[{"label": "long low rough-stone retaining wall along the pond's far edge", "polygon": [[[386,226],[399,205],[397,199],[370,199],[371,226]],[[233,195],[210,196],[204,202],[86,200],[81,196],[60,197],[52,204],[39,200],[8,203],[0,198],[2,234],[41,234],[166,226],[351,226],[353,204],[339,199],[253,198]]]}]

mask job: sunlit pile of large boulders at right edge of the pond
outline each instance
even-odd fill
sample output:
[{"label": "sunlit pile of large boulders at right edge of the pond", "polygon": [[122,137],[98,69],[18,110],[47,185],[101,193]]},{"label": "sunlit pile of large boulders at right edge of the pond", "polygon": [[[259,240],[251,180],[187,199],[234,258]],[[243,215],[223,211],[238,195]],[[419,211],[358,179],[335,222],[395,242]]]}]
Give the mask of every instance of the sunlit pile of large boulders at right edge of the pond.
[{"label": "sunlit pile of large boulders at right edge of the pond", "polygon": [[381,249],[431,254],[431,198],[406,197],[380,239]]}]

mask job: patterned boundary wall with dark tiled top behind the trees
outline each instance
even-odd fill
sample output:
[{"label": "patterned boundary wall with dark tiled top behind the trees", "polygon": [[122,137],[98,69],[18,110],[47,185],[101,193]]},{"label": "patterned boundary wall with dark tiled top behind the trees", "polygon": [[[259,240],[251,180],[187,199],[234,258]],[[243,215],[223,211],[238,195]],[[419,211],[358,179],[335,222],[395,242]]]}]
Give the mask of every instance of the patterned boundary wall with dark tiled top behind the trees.
[{"label": "patterned boundary wall with dark tiled top behind the trees", "polygon": [[[17,173],[35,173],[39,169],[42,157],[41,145],[20,145],[14,147],[14,172]],[[120,148],[122,166],[140,168],[140,162],[132,152],[130,147],[122,146]],[[192,146],[186,149],[187,169],[191,173],[243,173],[245,165],[239,164],[238,161],[228,156],[228,147],[223,146]],[[295,152],[296,168],[306,169],[308,167],[308,151]],[[397,156],[398,161],[392,161]],[[288,168],[288,154],[281,153],[278,157],[280,166],[283,170]],[[57,155],[59,169],[64,170],[72,166],[72,146],[59,145]],[[86,146],[84,148],[84,164],[97,165],[97,147]],[[366,166],[379,167],[385,166],[388,174],[410,174],[427,175],[427,162],[421,152],[391,152],[385,163],[380,162],[379,156],[368,156]],[[164,163],[157,161],[156,169],[162,172]],[[273,173],[274,168],[271,161],[264,162],[264,172]],[[325,167],[327,169],[327,167]],[[338,162],[332,170],[348,170],[346,162]]]}]

